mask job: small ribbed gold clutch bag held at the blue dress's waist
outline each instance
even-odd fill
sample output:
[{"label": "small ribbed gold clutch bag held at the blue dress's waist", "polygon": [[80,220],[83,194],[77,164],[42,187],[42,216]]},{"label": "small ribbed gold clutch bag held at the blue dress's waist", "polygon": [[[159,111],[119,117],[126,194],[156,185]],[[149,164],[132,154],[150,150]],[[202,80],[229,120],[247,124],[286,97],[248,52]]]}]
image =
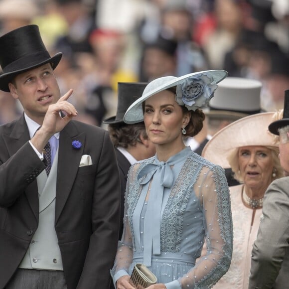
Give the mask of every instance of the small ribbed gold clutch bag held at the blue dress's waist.
[{"label": "small ribbed gold clutch bag held at the blue dress's waist", "polygon": [[154,274],[144,264],[137,263],[129,283],[136,289],[144,289],[157,282]]}]

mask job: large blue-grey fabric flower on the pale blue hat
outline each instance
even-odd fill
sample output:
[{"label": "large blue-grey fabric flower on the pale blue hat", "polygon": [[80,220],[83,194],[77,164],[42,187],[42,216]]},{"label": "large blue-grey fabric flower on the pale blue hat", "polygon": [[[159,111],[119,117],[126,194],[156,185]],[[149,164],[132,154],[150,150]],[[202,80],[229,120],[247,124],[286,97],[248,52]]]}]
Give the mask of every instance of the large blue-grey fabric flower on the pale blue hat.
[{"label": "large blue-grey fabric flower on the pale blue hat", "polygon": [[213,80],[213,77],[206,74],[185,79],[176,87],[176,102],[193,111],[206,107],[218,87],[217,84],[212,84]]}]

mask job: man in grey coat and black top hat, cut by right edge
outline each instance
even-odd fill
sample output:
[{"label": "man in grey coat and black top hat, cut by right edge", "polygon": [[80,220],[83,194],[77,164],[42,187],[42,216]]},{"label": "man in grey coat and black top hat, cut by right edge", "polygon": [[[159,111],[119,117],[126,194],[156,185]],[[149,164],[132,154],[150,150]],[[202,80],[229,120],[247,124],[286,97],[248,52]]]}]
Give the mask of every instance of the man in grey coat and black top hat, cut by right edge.
[{"label": "man in grey coat and black top hat, cut by right edge", "polygon": [[279,135],[285,177],[273,181],[265,193],[249,289],[289,288],[289,90],[285,91],[283,119],[271,123],[269,131]]}]

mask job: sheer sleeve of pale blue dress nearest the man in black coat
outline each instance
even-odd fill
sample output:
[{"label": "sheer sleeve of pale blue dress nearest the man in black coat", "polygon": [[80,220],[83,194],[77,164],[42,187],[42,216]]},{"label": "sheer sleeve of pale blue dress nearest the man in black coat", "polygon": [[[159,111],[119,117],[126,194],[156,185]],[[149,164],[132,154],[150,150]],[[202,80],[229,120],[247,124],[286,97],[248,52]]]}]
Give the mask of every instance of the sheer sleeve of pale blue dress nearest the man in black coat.
[{"label": "sheer sleeve of pale blue dress nearest the man in black coat", "polygon": [[122,240],[119,241],[117,255],[111,275],[116,282],[123,275],[128,275],[128,269],[133,260],[133,238],[128,218],[128,193],[136,180],[136,171],[139,164],[131,167],[128,175],[127,188],[125,193],[124,231]]}]

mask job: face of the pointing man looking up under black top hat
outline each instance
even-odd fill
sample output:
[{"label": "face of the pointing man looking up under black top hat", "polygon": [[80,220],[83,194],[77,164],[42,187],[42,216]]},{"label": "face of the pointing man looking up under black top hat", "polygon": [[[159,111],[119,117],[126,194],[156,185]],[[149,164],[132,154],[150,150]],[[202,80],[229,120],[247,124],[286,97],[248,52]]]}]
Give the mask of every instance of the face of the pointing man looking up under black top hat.
[{"label": "face of the pointing man looking up under black top hat", "polygon": [[9,83],[11,95],[19,99],[28,117],[40,124],[48,106],[60,98],[60,90],[49,63],[18,74]]}]

